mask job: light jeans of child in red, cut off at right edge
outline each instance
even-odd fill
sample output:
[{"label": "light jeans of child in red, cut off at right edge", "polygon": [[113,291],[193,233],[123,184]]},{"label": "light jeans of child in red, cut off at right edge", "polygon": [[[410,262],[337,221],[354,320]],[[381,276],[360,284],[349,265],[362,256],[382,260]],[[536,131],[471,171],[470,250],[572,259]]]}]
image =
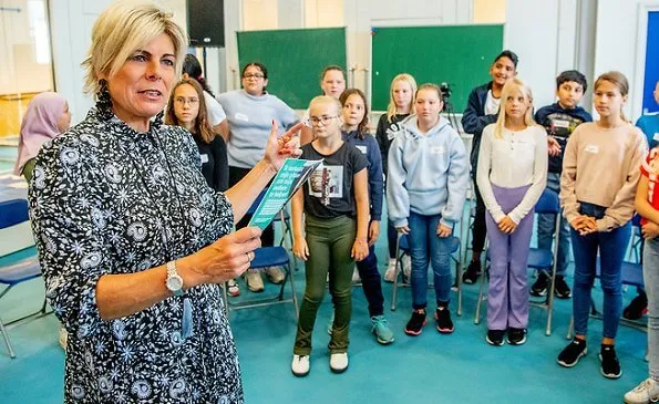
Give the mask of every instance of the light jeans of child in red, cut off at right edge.
[{"label": "light jeans of child in red, cut off at right edge", "polygon": [[659,381],[659,239],[645,241],[643,283],[648,293],[648,359],[650,377]]}]

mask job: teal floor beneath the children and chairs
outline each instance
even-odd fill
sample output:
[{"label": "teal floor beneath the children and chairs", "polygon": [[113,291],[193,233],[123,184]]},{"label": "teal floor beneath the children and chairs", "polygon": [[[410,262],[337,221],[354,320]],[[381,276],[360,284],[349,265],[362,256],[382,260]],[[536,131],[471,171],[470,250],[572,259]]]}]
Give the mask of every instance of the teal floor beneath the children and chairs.
[{"label": "teal floor beneath the children and chairs", "polygon": [[[20,256],[0,258],[0,266]],[[378,242],[384,271],[385,242]],[[295,273],[303,292],[303,271]],[[243,284],[241,284],[243,286]],[[276,286],[266,284],[265,293]],[[552,336],[545,336],[546,312],[531,309],[528,341],[522,346],[493,348],[484,340],[484,322],[474,325],[477,286],[465,286],[462,318],[454,315],[455,332],[441,335],[432,322],[423,334],[410,338],[403,327],[410,314],[408,289],[399,294],[399,309],[389,310],[391,284],[384,283],[385,315],[395,342],[382,346],[370,334],[367,303],[353,289],[350,331],[350,367],[340,375],[329,370],[326,324],[331,303],[326,296],[315,331],[311,373],[297,379],[290,373],[296,322],[290,304],[233,312],[231,328],[238,346],[247,403],[620,403],[622,394],[647,377],[646,333],[621,327],[617,349],[624,374],[617,381],[599,373],[597,352],[601,323],[591,320],[590,352],[574,369],[556,364],[567,343],[572,300],[557,301]],[[251,293],[243,293],[250,297]],[[626,302],[635,290],[625,292]],[[595,292],[596,301],[601,294]],[[0,301],[4,320],[38,310],[43,281],[27,282]],[[432,301],[432,291],[429,291]],[[455,303],[455,299],[453,304]],[[0,344],[0,403],[62,402],[64,352],[58,345],[56,319],[51,314],[9,330],[18,358],[9,359]],[[212,382],[212,381],[209,381]]]}]

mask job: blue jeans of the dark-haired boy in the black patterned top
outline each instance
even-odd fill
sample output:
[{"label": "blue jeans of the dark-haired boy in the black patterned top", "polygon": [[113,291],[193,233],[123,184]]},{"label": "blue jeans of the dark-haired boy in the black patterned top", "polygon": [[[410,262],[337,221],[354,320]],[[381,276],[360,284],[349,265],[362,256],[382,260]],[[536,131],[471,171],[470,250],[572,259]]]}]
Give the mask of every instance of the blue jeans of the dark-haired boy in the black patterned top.
[{"label": "blue jeans of the dark-haired boy in the black patterned top", "polygon": [[[547,188],[556,194],[560,191],[560,174],[547,174]],[[558,255],[556,257],[556,274],[565,276],[569,255],[569,224],[563,215],[558,215],[560,219],[559,238],[558,238]],[[537,238],[538,248],[552,249],[554,241],[554,229],[556,226],[556,215],[545,214],[538,215]]]}]

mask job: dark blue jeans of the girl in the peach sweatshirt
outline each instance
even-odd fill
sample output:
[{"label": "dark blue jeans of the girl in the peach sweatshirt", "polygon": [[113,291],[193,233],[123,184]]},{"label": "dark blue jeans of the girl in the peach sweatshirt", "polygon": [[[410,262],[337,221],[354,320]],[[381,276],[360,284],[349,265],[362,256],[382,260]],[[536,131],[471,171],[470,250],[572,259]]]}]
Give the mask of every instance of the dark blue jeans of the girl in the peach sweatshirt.
[{"label": "dark blue jeans of the girl in the peach sweatshirt", "polygon": [[[606,208],[603,206],[580,203],[580,214],[595,218],[604,217]],[[595,268],[599,252],[601,290],[604,292],[604,338],[615,339],[618,333],[618,322],[622,312],[621,266],[629,238],[631,222],[611,231],[596,231],[580,236],[570,229],[573,253],[575,256],[575,283],[573,294],[573,314],[575,332],[586,335],[588,331],[588,315],[590,312],[590,291],[595,282]]]}]

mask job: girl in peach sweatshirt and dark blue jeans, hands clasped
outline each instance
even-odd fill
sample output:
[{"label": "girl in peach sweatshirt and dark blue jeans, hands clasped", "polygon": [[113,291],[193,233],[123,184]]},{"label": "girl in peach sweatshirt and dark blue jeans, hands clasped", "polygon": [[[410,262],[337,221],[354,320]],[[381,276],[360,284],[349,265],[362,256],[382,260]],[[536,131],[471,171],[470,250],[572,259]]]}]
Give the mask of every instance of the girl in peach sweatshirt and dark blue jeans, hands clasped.
[{"label": "girl in peach sweatshirt and dark blue jeans, hands clasped", "polygon": [[648,146],[643,133],[622,113],[629,93],[629,83],[622,73],[600,75],[594,93],[599,120],[581,124],[573,132],[563,158],[560,205],[572,227],[575,256],[575,339],[560,352],[557,362],[573,367],[587,353],[590,290],[599,255],[604,292],[600,373],[618,379],[622,374],[615,350],[622,311],[620,271],[631,237],[629,221],[635,211],[639,167]]}]

